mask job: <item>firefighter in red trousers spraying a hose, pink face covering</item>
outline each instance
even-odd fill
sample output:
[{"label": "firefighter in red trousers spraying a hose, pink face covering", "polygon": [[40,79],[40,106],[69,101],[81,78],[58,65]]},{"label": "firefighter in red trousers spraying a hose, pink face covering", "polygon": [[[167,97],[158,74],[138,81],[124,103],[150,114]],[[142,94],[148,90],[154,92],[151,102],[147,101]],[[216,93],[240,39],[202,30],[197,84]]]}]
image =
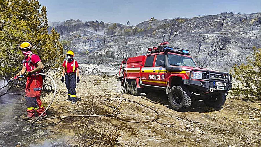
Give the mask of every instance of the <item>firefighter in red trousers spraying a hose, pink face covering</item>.
[{"label": "firefighter in red trousers spraying a hose, pink face covering", "polygon": [[[27,116],[21,116],[23,119],[31,119],[41,115],[45,108],[40,100],[41,88],[43,86],[43,78],[39,73],[44,68],[43,63],[38,55],[32,53],[32,45],[29,42],[23,42],[18,46],[23,55],[25,56],[23,60],[22,70],[15,76],[26,75],[26,106],[27,106]],[[44,115],[41,118],[45,118]]]}]

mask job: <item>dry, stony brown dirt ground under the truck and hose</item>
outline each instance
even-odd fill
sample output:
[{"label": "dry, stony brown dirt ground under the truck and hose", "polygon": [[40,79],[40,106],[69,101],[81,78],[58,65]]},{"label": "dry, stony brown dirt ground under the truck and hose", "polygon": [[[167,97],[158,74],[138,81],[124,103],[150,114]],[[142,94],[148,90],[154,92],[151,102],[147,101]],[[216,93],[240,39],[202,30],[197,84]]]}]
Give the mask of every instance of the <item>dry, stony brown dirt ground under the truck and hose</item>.
[{"label": "dry, stony brown dirt ground under the truck and hose", "polygon": [[[112,108],[102,101],[121,98],[116,77],[85,75],[77,84],[75,105],[67,99],[64,83],[57,81],[57,97],[48,117],[83,114],[111,114]],[[52,94],[42,98],[45,106]],[[123,95],[160,113],[157,121],[130,123],[115,117],[68,117],[41,121],[34,134],[9,137],[10,146],[260,146],[261,103],[247,103],[229,97],[223,108],[213,109],[196,101],[188,112],[177,112],[168,106],[164,92],[151,90],[142,96]],[[106,104],[118,106],[120,100]],[[137,103],[122,101],[121,118],[144,121],[157,117],[152,110]],[[25,122],[23,122],[25,123]],[[2,137],[2,138],[1,138]],[[4,140],[4,135],[0,135]],[[5,141],[7,143],[7,140]]]}]

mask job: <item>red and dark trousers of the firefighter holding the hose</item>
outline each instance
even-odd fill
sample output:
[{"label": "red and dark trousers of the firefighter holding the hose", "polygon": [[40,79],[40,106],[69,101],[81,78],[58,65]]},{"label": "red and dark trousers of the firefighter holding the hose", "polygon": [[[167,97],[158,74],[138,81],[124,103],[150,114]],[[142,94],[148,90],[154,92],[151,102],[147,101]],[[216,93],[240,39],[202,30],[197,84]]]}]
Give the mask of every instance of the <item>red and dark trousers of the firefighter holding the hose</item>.
[{"label": "red and dark trousers of the firefighter holding the hose", "polygon": [[[28,117],[35,117],[41,115],[45,110],[40,100],[42,86],[43,78],[41,75],[32,75],[27,77],[25,92]],[[35,111],[37,113],[35,113]]]}]

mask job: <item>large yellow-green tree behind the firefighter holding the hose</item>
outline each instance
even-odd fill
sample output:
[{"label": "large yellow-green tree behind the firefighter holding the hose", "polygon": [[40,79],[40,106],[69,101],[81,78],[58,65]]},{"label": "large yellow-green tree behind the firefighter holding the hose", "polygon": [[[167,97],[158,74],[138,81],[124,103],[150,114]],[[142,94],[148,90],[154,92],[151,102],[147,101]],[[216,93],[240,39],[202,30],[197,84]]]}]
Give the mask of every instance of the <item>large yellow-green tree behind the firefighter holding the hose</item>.
[{"label": "large yellow-green tree behind the firefighter holding the hose", "polygon": [[46,7],[36,0],[0,1],[0,74],[13,75],[21,69],[24,56],[18,44],[29,41],[38,54],[44,70],[58,68],[64,59],[60,35],[48,34]]}]

